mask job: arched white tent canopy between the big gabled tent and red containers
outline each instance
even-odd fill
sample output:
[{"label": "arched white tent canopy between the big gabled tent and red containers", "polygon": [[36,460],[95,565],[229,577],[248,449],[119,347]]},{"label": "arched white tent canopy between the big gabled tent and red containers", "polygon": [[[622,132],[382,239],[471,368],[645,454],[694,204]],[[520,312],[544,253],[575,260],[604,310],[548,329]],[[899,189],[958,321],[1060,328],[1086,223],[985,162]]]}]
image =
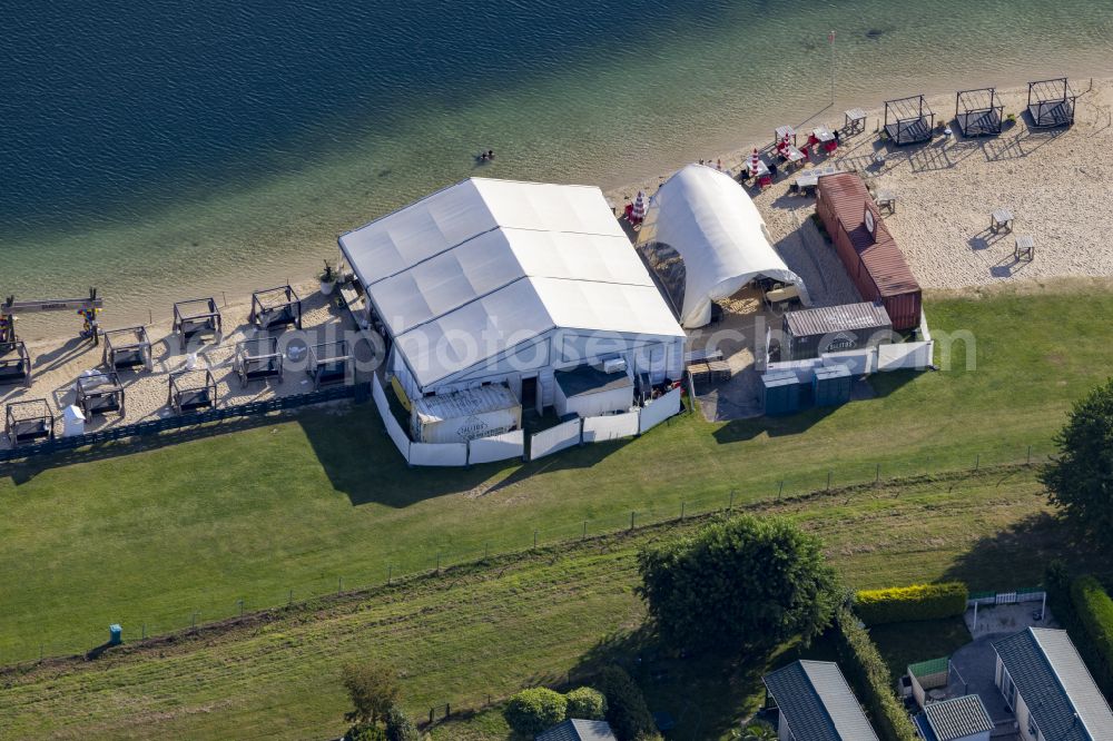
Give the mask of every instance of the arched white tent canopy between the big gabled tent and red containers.
[{"label": "arched white tent canopy between the big gabled tent and red containers", "polygon": [[669,245],[683,259],[686,327],[706,325],[712,300],[757,277],[794,284],[804,304],[811,303],[804,280],[774,249],[757,206],[715,168],[689,165],[669,178],[650,202],[640,240]]}]

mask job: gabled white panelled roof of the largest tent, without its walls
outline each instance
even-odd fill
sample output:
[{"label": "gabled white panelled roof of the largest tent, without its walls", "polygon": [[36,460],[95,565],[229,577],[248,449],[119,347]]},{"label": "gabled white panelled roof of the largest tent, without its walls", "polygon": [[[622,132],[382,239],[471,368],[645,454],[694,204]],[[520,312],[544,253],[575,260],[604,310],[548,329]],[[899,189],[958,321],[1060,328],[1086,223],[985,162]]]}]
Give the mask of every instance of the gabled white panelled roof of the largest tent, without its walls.
[{"label": "gabled white panelled roof of the largest tent, without its walls", "polygon": [[422,387],[558,327],[683,336],[599,188],[472,178],[339,246]]}]

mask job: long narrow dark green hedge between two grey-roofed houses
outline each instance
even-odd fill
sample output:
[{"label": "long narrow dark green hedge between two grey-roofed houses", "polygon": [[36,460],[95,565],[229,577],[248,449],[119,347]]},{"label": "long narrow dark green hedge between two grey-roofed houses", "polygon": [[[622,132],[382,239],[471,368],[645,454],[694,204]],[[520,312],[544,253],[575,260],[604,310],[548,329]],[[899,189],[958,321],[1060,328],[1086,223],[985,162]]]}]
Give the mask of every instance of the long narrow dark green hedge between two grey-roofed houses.
[{"label": "long narrow dark green hedge between two grey-roofed houses", "polygon": [[893,675],[869,633],[846,607],[835,615],[835,645],[839,666],[866,705],[874,728],[885,741],[917,741],[919,735],[908,720],[904,704],[897,700]]}]

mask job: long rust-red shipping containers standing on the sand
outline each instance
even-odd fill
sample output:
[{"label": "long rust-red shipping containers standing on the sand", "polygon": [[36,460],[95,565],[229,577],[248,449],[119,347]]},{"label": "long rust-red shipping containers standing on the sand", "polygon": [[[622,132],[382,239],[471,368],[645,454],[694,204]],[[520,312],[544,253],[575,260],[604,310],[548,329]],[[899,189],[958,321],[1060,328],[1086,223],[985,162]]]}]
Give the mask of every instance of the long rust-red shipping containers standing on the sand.
[{"label": "long rust-red shipping containers standing on the sand", "polygon": [[861,297],[880,300],[894,329],[917,327],[923,300],[919,284],[861,178],[853,172],[819,178],[816,213]]}]

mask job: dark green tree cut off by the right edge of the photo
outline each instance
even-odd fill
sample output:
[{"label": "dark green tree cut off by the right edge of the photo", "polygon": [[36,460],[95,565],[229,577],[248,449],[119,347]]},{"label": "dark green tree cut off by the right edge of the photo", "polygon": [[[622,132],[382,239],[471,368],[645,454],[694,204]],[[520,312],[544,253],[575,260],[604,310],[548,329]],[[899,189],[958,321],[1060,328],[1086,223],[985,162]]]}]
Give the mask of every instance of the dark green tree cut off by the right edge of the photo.
[{"label": "dark green tree cut off by the right edge of the photo", "polygon": [[1040,472],[1051,503],[1090,534],[1113,527],[1113,378],[1076,402]]}]

